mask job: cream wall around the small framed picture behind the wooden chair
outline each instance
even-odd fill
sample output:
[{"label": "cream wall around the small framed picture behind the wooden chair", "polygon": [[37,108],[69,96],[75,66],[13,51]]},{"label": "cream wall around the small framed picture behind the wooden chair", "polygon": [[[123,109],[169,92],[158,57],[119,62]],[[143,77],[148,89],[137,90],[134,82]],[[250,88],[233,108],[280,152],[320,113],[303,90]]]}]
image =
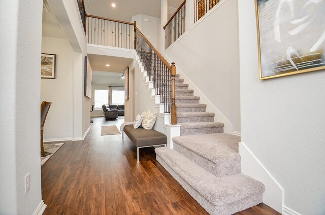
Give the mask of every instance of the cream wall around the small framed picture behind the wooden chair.
[{"label": "cream wall around the small framed picture behind the wooden chair", "polygon": [[74,52],[67,39],[42,38],[42,53],[56,54],[55,79],[41,79],[41,101],[52,101],[44,140],[73,138]]}]

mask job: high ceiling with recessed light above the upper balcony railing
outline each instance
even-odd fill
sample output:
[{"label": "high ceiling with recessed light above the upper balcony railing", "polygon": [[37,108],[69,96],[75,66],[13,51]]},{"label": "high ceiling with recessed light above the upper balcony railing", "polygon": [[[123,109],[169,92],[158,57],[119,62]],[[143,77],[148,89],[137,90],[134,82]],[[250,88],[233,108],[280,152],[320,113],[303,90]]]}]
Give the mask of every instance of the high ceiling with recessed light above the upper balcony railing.
[{"label": "high ceiling with recessed light above the upper balcony railing", "polygon": [[[182,2],[168,0],[169,13],[174,13]],[[115,3],[115,8],[112,3]],[[138,14],[160,18],[160,0],[85,0],[85,8],[87,14],[126,22]]]}]

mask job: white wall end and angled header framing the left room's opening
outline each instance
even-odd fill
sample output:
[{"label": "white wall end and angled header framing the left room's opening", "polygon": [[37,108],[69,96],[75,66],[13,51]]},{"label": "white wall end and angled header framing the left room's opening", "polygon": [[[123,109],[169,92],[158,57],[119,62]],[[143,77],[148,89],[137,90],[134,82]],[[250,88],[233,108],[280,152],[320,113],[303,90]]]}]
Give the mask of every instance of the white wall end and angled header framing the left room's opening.
[{"label": "white wall end and angled header framing the left room's opening", "polygon": [[84,59],[87,44],[76,1],[48,0],[48,3],[74,51],[73,140],[85,137],[90,127],[90,98],[84,96]]}]

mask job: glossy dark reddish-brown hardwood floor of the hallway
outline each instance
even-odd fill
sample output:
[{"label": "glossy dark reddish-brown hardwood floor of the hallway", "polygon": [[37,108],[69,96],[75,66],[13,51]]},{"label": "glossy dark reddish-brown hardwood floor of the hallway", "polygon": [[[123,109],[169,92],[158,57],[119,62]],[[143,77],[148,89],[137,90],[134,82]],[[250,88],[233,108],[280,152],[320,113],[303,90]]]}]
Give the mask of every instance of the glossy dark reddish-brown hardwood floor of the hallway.
[{"label": "glossy dark reddish-brown hardwood floor of the hallway", "polygon": [[[83,141],[66,143],[42,166],[44,214],[208,214],[155,159],[121,135],[101,136],[93,118]],[[236,214],[280,214],[259,204]]]}]

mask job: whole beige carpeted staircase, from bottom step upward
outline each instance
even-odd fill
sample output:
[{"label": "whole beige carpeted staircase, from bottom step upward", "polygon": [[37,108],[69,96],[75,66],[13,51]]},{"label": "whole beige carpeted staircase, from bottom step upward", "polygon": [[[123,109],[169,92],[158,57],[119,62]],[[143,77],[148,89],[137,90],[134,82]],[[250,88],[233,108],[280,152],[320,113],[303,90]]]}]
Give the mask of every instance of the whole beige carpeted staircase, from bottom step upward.
[{"label": "whole beige carpeted staircase, from bottom step upward", "polygon": [[[146,62],[144,62],[146,63]],[[264,185],[241,173],[240,137],[223,133],[223,123],[176,75],[177,124],[174,148],[156,148],[156,159],[210,214],[233,214],[263,201]],[[159,86],[157,86],[159,87]]]}]

